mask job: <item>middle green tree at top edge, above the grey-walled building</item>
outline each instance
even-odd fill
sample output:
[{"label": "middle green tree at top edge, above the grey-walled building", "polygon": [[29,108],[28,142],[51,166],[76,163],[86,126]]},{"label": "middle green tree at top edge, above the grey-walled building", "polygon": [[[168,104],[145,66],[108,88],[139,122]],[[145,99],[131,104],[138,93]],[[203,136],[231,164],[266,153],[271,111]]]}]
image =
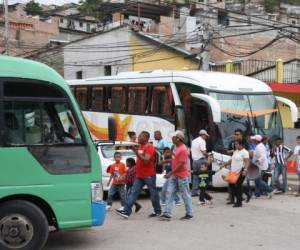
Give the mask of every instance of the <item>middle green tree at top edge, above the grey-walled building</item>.
[{"label": "middle green tree at top edge, above the grey-walled building", "polygon": [[102,0],[80,0],[78,10],[81,15],[93,16],[101,19],[103,13],[101,11]]}]

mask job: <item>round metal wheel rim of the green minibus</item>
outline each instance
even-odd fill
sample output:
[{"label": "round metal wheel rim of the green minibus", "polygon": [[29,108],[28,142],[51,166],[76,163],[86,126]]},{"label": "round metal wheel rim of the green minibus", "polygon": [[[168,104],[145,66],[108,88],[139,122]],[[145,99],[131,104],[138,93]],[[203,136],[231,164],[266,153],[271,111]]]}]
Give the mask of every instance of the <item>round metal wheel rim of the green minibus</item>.
[{"label": "round metal wheel rim of the green minibus", "polygon": [[32,240],[33,231],[31,222],[23,215],[5,216],[0,221],[0,243],[12,249],[22,248]]}]

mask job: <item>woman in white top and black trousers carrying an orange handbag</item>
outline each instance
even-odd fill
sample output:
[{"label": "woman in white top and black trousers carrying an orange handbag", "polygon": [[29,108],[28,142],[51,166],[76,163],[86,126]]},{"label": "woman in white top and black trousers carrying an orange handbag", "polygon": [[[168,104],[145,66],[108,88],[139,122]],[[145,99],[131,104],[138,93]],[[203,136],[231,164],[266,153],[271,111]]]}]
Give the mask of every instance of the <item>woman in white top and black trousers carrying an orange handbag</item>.
[{"label": "woman in white top and black trousers carrying an orange handbag", "polygon": [[[229,183],[229,189],[232,193],[231,200],[227,204],[234,204],[233,207],[242,206],[243,182],[248,172],[249,153],[244,148],[242,140],[236,140],[235,151],[231,159],[225,162],[223,166],[230,166],[230,171],[225,176],[224,180]],[[247,194],[247,200],[250,199],[250,194]]]}]

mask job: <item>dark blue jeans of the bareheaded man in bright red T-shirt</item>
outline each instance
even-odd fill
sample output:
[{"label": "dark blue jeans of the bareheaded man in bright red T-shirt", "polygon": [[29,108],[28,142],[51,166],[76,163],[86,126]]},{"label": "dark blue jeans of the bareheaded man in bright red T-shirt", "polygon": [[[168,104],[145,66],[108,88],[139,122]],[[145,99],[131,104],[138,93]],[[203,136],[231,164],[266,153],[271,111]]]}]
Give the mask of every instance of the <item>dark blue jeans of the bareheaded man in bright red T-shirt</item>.
[{"label": "dark blue jeans of the bareheaded man in bright red T-shirt", "polygon": [[159,195],[156,189],[156,176],[147,176],[144,178],[136,178],[134,180],[131,193],[124,206],[124,212],[128,215],[132,213],[132,206],[136,203],[136,200],[139,197],[139,194],[141,193],[145,185],[148,187],[148,190],[150,192],[154,212],[156,214],[161,214]]}]

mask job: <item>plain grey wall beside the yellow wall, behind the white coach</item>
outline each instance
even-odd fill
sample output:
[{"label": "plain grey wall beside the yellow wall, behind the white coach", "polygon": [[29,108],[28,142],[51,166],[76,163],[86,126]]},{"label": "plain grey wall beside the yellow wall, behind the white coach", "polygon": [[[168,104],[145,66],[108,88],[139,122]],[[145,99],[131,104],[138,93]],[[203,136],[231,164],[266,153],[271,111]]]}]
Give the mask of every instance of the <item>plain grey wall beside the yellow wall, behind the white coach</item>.
[{"label": "plain grey wall beside the yellow wall, behind the white coach", "polygon": [[112,66],[113,75],[131,70],[131,57],[126,47],[129,35],[130,30],[119,28],[66,45],[63,52],[65,79],[75,79],[77,71],[82,71],[83,78],[103,76],[105,65]]}]

